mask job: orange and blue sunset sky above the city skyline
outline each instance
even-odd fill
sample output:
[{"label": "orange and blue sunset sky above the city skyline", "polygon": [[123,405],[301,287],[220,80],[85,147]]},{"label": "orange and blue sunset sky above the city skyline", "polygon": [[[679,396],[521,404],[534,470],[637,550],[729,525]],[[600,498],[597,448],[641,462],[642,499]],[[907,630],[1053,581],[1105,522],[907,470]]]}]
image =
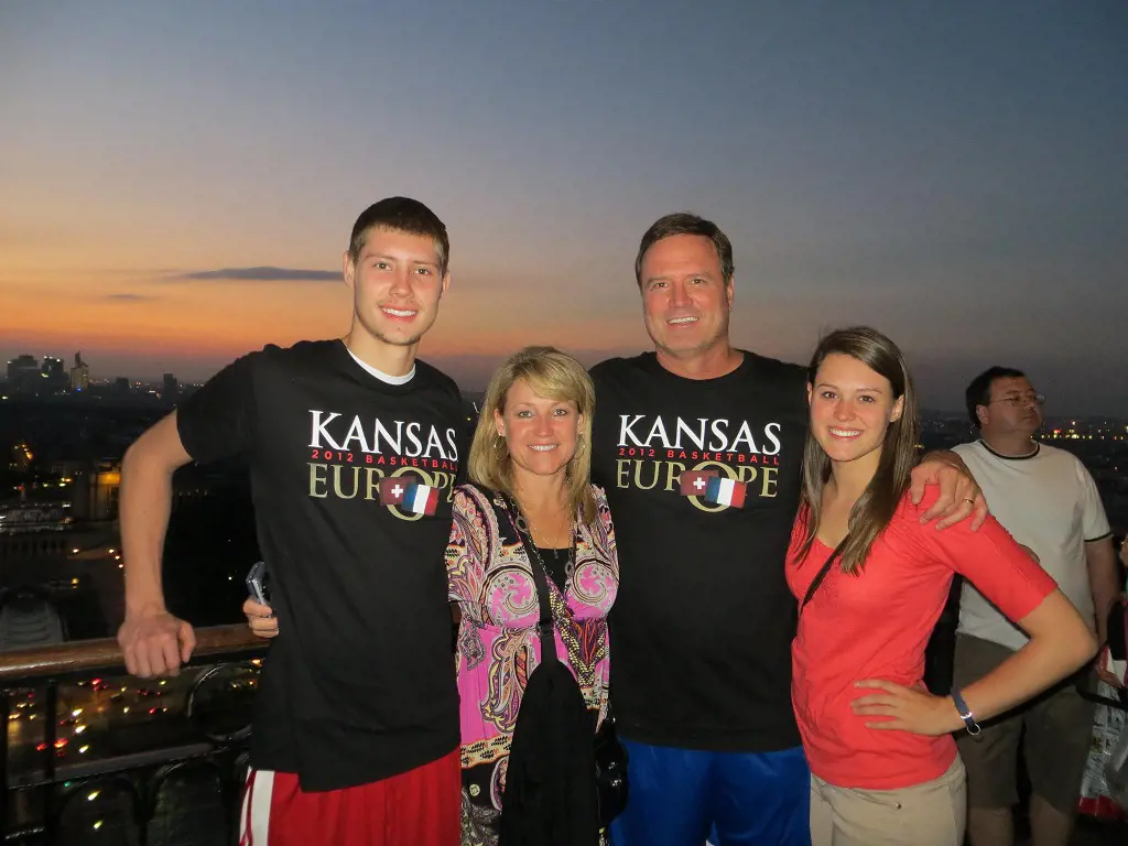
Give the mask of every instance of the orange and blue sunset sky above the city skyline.
[{"label": "orange and blue sunset sky above the city skyline", "polygon": [[742,346],[864,321],[926,405],[1006,363],[1128,415],[1122,2],[0,3],[0,360],[196,380],[340,335],[393,194],[449,227],[422,355],[467,388],[645,349],[638,238],[690,210]]}]

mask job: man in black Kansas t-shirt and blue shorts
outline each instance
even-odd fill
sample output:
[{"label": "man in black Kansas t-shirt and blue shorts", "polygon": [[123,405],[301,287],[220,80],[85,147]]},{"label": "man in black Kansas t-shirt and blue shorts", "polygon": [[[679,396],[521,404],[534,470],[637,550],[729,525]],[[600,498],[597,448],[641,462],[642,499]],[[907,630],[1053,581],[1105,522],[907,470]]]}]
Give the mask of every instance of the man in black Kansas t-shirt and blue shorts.
[{"label": "man in black Kansas t-shirt and blue shorts", "polygon": [[[804,846],[810,774],[791,705],[796,608],[784,561],[801,493],[805,370],[729,342],[732,245],[662,218],[635,263],[655,351],[592,369],[592,476],[617,534],[611,702],[629,751],[616,846]],[[952,466],[954,465],[954,466]],[[958,460],[941,525],[978,488]],[[980,521],[985,506],[978,506]]]}]

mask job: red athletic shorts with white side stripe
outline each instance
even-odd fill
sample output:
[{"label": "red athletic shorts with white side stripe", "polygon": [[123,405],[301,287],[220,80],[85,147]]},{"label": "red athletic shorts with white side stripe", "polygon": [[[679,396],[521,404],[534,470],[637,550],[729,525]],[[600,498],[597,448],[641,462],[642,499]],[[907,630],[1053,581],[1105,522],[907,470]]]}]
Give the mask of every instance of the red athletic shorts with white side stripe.
[{"label": "red athletic shorts with white side stripe", "polygon": [[458,846],[459,754],[371,784],[307,793],[293,773],[252,769],[239,846]]}]

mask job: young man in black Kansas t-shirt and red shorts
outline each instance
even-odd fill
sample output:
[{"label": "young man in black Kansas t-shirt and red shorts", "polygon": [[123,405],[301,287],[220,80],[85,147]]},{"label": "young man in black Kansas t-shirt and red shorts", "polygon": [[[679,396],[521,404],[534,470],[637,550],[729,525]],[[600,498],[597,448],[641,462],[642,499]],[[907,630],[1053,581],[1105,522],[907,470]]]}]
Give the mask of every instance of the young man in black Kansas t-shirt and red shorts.
[{"label": "young man in black Kansas t-shirt and red shorts", "polygon": [[376,203],[343,258],[349,334],[239,359],[125,455],[118,642],[142,678],[175,675],[195,644],[161,590],[173,472],[235,455],[250,469],[283,625],[256,698],[245,843],[458,843],[443,550],[464,426],[455,384],[415,359],[448,256],[422,203]]}]

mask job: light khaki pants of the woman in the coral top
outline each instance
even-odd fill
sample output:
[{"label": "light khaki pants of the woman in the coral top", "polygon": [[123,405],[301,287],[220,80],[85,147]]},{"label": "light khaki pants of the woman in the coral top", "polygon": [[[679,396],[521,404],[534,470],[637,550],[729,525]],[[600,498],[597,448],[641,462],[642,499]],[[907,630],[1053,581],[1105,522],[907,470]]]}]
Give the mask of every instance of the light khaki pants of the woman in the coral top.
[{"label": "light khaki pants of the woman in the coral top", "polygon": [[962,846],[967,782],[959,756],[940,778],[892,791],[811,776],[811,846]]}]

